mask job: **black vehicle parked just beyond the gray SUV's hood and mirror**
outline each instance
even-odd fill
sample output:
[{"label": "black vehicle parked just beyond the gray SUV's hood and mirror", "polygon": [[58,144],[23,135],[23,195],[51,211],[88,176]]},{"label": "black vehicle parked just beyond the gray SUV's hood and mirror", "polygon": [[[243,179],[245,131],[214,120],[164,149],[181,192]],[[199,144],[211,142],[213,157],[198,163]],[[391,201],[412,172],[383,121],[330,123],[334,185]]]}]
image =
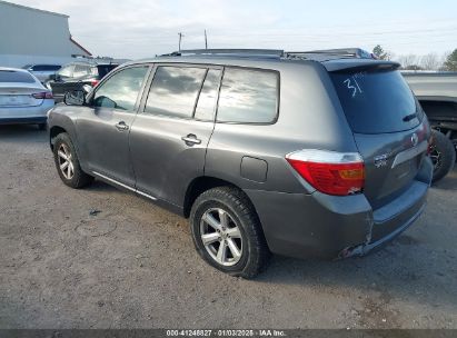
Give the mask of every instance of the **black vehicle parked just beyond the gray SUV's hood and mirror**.
[{"label": "black vehicle parked just beyond the gray SUV's hood and mirror", "polygon": [[119,63],[83,60],[64,64],[46,86],[52,90],[56,102],[63,101],[66,92],[81,90],[88,84],[95,87],[107,73]]}]

